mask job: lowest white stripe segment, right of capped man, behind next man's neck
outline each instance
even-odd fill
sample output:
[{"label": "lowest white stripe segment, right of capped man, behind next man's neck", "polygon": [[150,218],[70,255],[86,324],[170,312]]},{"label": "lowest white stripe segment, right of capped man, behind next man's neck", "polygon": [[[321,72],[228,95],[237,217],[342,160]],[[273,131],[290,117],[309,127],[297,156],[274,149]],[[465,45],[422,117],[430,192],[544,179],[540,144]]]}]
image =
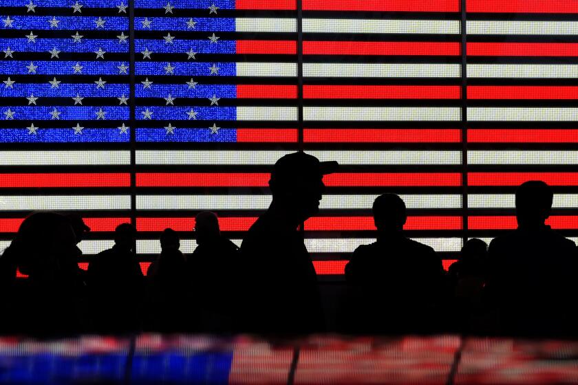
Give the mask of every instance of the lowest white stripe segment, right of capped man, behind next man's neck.
[{"label": "lowest white stripe segment, right of capped man, behind next man's neck", "polygon": [[[436,252],[458,252],[462,249],[461,238],[414,238],[430,246]],[[310,253],[350,253],[359,245],[368,245],[375,242],[372,238],[361,239],[306,239],[305,245]]]}]

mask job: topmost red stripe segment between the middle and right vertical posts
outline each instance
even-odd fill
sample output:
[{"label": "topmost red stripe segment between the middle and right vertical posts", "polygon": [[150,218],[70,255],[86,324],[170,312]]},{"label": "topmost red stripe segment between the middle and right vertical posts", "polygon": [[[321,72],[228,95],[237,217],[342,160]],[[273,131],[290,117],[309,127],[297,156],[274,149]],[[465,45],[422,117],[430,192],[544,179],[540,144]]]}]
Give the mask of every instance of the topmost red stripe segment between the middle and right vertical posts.
[{"label": "topmost red stripe segment between the middle and right vertical posts", "polygon": [[460,2],[458,0],[303,0],[303,10],[460,12]]}]

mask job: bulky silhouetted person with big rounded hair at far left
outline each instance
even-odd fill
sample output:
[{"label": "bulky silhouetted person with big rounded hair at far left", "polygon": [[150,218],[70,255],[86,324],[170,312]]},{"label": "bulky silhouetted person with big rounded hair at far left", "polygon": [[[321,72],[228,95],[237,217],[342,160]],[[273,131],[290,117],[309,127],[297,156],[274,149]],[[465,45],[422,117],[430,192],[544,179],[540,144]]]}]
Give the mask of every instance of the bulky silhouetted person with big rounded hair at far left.
[{"label": "bulky silhouetted person with big rounded hair at far left", "polygon": [[[14,284],[17,270],[28,276],[21,285],[5,287],[4,306],[12,301],[8,329],[13,333],[62,335],[83,331],[79,306],[84,285],[76,263],[74,230],[56,212],[34,212],[24,219],[3,252],[2,276]],[[3,320],[6,321],[6,320]],[[13,321],[13,322],[10,322]]]}]

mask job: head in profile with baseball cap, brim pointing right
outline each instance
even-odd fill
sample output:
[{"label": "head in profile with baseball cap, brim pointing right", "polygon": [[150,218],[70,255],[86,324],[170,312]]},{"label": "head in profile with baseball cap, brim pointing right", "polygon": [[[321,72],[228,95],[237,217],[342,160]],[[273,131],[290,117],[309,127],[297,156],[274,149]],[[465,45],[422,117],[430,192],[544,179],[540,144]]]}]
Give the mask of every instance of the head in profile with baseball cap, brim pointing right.
[{"label": "head in profile with baseball cap, brim pointing right", "polygon": [[306,153],[283,155],[273,167],[269,186],[273,203],[299,223],[319,212],[325,184],[323,175],[333,173],[337,162],[319,162]]}]

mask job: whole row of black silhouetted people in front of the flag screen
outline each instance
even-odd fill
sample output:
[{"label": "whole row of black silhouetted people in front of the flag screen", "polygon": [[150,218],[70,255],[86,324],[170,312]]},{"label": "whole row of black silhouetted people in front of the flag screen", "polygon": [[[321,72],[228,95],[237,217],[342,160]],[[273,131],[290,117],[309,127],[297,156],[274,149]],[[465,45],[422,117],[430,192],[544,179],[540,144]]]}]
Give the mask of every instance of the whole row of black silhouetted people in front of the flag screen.
[{"label": "whole row of black silhouetted people in front of the flag screen", "polygon": [[328,330],[299,225],[319,212],[323,175],[338,166],[306,153],[281,157],[270,207],[241,248],[221,234],[216,214],[200,212],[194,252],[180,252],[178,233],[167,228],[146,276],[133,225],[118,225],[114,246],[81,270],[83,219],[34,212],[0,258],[0,332],[578,335],[578,250],[545,224],[553,192],[542,181],[517,189],[516,230],[489,247],[470,239],[448,272],[432,248],[404,235],[403,200],[377,197],[376,241],[347,263],[339,328]]}]

